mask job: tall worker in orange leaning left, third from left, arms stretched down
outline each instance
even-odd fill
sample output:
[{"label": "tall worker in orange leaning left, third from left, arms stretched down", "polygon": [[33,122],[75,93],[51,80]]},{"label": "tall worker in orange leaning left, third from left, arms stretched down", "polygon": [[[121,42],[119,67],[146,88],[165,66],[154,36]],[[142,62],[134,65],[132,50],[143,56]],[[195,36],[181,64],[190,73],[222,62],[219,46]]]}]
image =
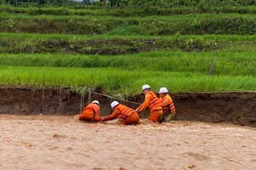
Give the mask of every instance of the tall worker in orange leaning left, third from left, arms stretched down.
[{"label": "tall worker in orange leaning left, third from left, arms stretched down", "polygon": [[148,84],[143,85],[143,93],[145,95],[145,100],[136,111],[140,112],[149,108],[150,116],[148,119],[152,122],[160,122],[160,116],[163,114],[160,99],[158,99],[154,92],[150,90],[150,86]]}]

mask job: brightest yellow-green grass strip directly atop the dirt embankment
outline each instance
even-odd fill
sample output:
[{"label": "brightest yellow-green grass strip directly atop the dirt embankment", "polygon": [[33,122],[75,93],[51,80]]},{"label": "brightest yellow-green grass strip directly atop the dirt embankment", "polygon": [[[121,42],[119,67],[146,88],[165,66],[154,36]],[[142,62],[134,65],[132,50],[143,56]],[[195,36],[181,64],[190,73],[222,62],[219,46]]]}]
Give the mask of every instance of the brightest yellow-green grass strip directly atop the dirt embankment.
[{"label": "brightest yellow-green grass strip directly atop the dirt embankment", "polygon": [[192,72],[123,71],[116,68],[0,67],[1,85],[36,87],[96,87],[111,94],[139,94],[148,83],[154,91],[255,91],[256,77],[207,76]]}]

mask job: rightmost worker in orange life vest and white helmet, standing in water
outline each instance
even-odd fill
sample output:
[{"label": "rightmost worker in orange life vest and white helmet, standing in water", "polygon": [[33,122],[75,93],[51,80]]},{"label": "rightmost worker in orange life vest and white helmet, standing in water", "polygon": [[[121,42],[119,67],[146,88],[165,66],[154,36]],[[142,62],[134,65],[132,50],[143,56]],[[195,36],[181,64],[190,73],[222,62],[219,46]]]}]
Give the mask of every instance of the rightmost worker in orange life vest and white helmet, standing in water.
[{"label": "rightmost worker in orange life vest and white helmet, standing in water", "polygon": [[163,107],[163,115],[160,118],[160,122],[176,120],[176,108],[171,96],[168,94],[167,88],[160,88],[159,94]]}]

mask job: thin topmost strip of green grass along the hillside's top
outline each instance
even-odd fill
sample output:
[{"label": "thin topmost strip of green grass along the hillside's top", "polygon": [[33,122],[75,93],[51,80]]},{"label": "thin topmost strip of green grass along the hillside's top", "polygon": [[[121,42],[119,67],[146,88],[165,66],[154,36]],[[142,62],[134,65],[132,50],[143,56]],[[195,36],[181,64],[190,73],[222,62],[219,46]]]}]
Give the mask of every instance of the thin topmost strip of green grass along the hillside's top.
[{"label": "thin topmost strip of green grass along the hillside's top", "polygon": [[[255,14],[255,5],[251,6],[230,6],[228,4],[222,4],[219,7],[216,4],[207,4],[204,3],[204,6],[207,7],[207,10],[204,10],[205,13],[211,14],[221,14],[221,13],[248,13],[248,14]],[[15,8],[10,6],[0,6],[1,11],[7,11],[9,13],[19,13],[19,14],[39,14],[37,7],[26,7],[26,8]],[[160,14],[160,15],[170,15],[170,14],[195,14],[201,13],[202,11],[199,10],[198,5],[189,5],[188,7],[179,6],[174,7],[170,5],[168,8],[160,8],[159,6],[151,6],[147,7],[142,5],[141,8],[101,8],[97,6],[61,6],[61,7],[52,7],[52,6],[41,6],[41,12],[45,14],[55,14],[55,15],[121,15],[125,16],[143,16],[143,15],[151,15],[151,14]]]}]

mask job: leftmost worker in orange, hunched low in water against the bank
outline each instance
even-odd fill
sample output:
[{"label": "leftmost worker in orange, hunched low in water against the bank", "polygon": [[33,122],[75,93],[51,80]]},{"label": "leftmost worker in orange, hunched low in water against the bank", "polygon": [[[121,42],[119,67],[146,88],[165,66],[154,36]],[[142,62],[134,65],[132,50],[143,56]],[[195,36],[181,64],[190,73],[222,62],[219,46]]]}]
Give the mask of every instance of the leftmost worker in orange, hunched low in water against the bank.
[{"label": "leftmost worker in orange, hunched low in water against the bank", "polygon": [[99,112],[100,103],[97,100],[93,100],[79,115],[79,120],[87,122],[102,122],[102,117],[99,115]]}]

